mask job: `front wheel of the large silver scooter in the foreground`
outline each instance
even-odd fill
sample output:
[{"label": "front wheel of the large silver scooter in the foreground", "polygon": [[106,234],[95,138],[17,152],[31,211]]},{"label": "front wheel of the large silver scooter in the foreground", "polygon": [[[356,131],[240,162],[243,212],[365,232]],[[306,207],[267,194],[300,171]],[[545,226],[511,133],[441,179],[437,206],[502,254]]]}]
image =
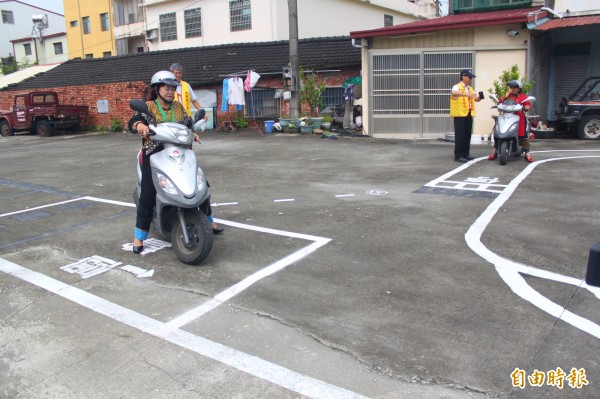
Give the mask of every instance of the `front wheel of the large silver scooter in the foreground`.
[{"label": "front wheel of the large silver scooter in the foreground", "polygon": [[[188,265],[197,266],[210,253],[213,244],[213,232],[208,218],[199,209],[186,209],[185,226],[181,225],[179,218],[173,221],[171,229],[171,243],[177,258]],[[190,245],[185,244],[183,229],[187,229]]]}]

